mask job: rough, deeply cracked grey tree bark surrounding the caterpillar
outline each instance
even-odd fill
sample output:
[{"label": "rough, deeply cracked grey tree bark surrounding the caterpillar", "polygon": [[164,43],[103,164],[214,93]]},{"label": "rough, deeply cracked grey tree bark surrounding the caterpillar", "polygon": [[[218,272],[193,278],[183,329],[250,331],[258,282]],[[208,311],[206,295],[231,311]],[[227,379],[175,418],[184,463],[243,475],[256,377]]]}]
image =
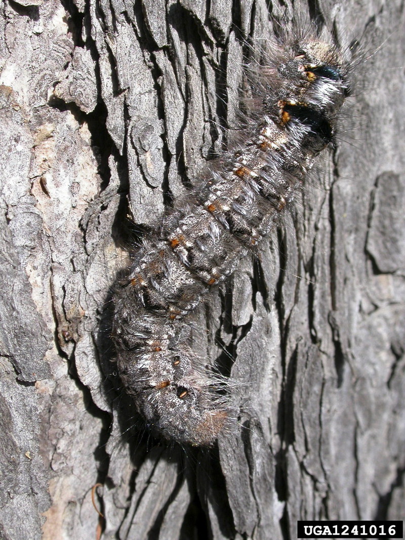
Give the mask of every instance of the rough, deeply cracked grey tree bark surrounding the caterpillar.
[{"label": "rough, deeply cracked grey tree bark surrounding the caterpillar", "polygon": [[242,38],[271,36],[285,2],[3,4],[2,538],[288,539],[297,519],[403,518],[404,7],[308,3],[381,48],[318,178],[197,314],[198,346],[241,383],[239,427],[212,450],[133,427],[109,287],[129,208],[153,227],[221,151]]}]

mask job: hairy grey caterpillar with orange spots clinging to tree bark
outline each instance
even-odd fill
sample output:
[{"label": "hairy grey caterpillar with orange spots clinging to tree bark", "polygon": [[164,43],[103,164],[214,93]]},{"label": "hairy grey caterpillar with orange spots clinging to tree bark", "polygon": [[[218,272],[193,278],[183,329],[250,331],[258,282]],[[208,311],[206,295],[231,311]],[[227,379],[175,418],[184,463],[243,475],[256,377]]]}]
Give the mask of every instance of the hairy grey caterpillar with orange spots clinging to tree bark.
[{"label": "hairy grey caterpillar with orange spots clinging to tree bark", "polygon": [[345,55],[315,32],[268,44],[266,61],[245,69],[238,137],[160,219],[113,293],[126,392],[154,433],[194,446],[212,446],[234,411],[223,377],[187,345],[187,316],[272,231],[333,144],[350,93]]}]

